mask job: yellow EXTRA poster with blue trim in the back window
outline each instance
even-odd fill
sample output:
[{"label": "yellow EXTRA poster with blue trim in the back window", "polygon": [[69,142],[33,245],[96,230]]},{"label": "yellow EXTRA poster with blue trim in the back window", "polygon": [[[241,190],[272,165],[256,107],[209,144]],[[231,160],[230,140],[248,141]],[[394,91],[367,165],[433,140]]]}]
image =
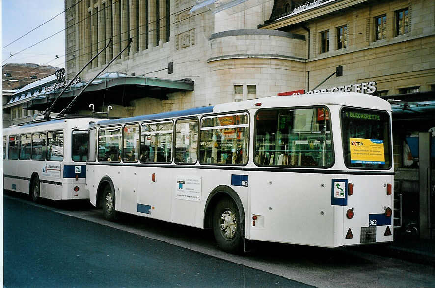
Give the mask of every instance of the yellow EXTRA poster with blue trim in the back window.
[{"label": "yellow EXTRA poster with blue trim in the back window", "polygon": [[349,138],[351,163],[385,164],[383,140]]}]

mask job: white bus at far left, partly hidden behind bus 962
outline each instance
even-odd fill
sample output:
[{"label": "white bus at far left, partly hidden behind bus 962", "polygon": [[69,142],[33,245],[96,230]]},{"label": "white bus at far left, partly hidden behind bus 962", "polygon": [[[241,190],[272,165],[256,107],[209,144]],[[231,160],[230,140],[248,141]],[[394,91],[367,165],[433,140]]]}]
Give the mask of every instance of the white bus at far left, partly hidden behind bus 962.
[{"label": "white bus at far left, partly hidden behind bus 962", "polygon": [[33,201],[88,199],[88,126],[101,120],[62,118],[4,128],[3,189]]}]

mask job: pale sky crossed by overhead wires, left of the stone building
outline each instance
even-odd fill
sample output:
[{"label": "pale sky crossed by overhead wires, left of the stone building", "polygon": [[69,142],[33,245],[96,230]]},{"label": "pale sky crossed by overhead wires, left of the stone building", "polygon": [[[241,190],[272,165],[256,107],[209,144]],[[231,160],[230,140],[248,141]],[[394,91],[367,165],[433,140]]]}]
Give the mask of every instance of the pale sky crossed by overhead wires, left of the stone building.
[{"label": "pale sky crossed by overhead wires, left of the stone building", "polygon": [[[65,33],[36,44],[17,53],[65,28],[64,0],[0,0],[1,2],[1,47],[2,65],[5,63],[36,63],[65,67]],[[8,45],[23,36],[33,28],[50,20],[23,38]],[[8,45],[7,47],[5,47]],[[12,53],[12,57],[10,57]],[[59,58],[56,59],[56,55]]]}]

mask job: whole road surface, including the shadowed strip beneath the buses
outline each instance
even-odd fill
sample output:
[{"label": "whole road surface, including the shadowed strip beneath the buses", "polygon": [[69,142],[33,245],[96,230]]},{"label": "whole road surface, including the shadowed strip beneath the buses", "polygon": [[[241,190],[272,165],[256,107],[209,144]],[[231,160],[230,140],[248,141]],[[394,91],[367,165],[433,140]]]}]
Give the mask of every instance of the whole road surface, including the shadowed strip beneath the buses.
[{"label": "whole road surface, including the shadowed strip beneath the buses", "polygon": [[206,230],[126,214],[109,222],[88,202],[3,199],[9,288],[435,287],[434,265],[386,257],[380,244],[330,249],[254,242],[240,256],[219,250]]}]

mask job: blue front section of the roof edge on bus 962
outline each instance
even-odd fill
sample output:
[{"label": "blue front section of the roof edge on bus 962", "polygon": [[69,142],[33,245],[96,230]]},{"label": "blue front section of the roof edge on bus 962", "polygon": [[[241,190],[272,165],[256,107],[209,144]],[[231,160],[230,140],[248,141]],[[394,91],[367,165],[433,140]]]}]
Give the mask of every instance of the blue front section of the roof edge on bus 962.
[{"label": "blue front section of the roof edge on bus 962", "polygon": [[95,126],[97,126],[97,124],[99,124],[101,126],[106,126],[106,125],[115,125],[115,124],[121,124],[121,123],[142,122],[142,121],[146,121],[146,120],[167,119],[167,118],[173,118],[173,117],[181,117],[181,116],[188,116],[188,115],[195,115],[195,114],[210,113],[210,112],[213,112],[213,107],[214,106],[197,107],[197,108],[171,111],[171,112],[147,114],[147,115],[133,116],[133,117],[127,117],[127,118],[120,118],[120,119],[103,120],[100,122],[92,123],[89,125],[89,127],[95,127]]}]

